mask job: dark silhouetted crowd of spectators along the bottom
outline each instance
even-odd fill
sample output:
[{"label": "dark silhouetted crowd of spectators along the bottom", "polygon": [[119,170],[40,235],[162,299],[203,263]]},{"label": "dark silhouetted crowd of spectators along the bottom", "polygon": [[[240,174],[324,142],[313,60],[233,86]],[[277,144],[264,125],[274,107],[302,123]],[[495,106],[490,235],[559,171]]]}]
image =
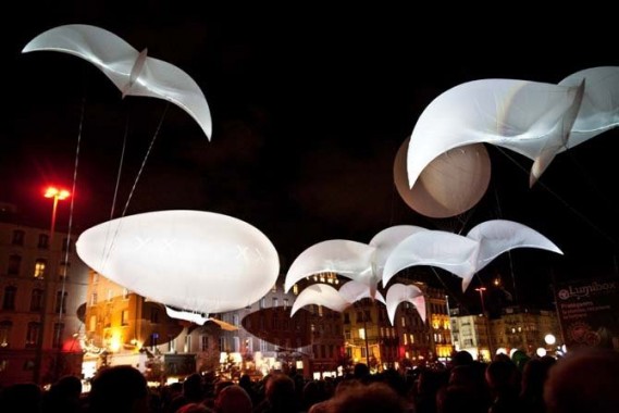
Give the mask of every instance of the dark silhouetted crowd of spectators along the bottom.
[{"label": "dark silhouetted crowd of spectators along the bottom", "polygon": [[271,373],[238,383],[198,373],[150,388],[135,367],[101,368],[83,392],[82,380],[64,376],[48,390],[34,383],[0,389],[4,413],[575,413],[619,412],[619,352],[579,349],[560,359],[490,363],[460,351],[443,368],[387,370],[366,364],[341,377],[307,379]]}]

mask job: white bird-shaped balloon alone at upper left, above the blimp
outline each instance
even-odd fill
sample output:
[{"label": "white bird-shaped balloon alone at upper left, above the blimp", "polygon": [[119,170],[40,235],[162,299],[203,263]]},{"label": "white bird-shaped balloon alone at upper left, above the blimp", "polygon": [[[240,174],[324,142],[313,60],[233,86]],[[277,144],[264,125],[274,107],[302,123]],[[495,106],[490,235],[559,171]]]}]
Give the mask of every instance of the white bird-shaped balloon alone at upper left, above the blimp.
[{"label": "white bird-shaped balloon alone at upper left, above the blimp", "polygon": [[22,50],[59,51],[97,66],[126,95],[168,100],[187,112],[210,140],[212,121],[207,99],[196,82],[181,68],[138,52],[106,29],[70,24],[51,28],[32,39]]}]

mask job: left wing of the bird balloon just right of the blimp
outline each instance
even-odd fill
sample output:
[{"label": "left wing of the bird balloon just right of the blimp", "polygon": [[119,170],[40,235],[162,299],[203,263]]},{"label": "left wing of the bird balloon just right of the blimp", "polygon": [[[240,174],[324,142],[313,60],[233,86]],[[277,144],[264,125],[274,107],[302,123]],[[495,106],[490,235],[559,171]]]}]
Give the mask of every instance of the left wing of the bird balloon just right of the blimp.
[{"label": "left wing of the bird balloon just right of the blimp", "polygon": [[286,273],[284,290],[318,273],[333,272],[350,279],[370,284],[374,247],[344,239],[315,243],[301,252]]}]

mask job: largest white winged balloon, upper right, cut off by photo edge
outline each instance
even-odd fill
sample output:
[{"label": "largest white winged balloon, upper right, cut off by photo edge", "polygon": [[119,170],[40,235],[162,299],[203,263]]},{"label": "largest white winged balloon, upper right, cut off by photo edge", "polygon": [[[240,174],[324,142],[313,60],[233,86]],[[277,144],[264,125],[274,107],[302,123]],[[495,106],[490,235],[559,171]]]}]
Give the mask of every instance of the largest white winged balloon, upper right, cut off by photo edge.
[{"label": "largest white winged balloon, upper right, cut off by photo edge", "polygon": [[[448,120],[448,122],[446,122]],[[592,67],[558,85],[481,79],[458,85],[419,117],[407,151],[409,188],[450,149],[479,142],[531,160],[530,186],[556,154],[619,124],[619,67]]]}]

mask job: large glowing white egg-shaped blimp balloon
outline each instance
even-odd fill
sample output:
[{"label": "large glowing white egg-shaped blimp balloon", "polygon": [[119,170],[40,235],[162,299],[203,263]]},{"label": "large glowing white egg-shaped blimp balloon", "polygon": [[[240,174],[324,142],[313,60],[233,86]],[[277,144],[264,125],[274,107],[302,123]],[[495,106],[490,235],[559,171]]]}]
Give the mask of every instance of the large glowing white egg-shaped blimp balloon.
[{"label": "large glowing white egg-shaped blimp balloon", "polygon": [[158,211],[85,230],[77,254],[146,298],[198,314],[257,302],[275,284],[277,252],[256,227],[202,211]]}]

